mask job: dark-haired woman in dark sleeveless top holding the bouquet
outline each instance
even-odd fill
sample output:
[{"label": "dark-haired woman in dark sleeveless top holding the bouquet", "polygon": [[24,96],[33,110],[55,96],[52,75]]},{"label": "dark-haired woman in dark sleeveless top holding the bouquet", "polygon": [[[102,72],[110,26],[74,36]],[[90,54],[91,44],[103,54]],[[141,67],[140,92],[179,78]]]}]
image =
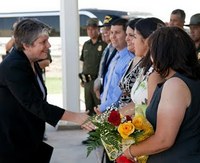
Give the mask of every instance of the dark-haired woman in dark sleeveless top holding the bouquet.
[{"label": "dark-haired woman in dark sleeveless top holding the bouquet", "polygon": [[200,162],[200,65],[189,35],[178,27],[158,29],[149,39],[154,70],[163,76],[147,108],[155,134],[124,155],[148,163]]}]

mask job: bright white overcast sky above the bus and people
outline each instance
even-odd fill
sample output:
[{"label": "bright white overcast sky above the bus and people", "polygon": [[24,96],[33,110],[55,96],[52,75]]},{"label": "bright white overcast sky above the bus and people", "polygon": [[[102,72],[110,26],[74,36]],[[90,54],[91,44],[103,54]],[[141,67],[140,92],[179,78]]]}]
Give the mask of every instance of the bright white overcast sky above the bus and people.
[{"label": "bright white overcast sky above the bus and people", "polygon": [[[23,4],[23,5],[22,5]],[[78,0],[79,8],[99,8],[125,11],[145,11],[163,21],[169,21],[172,10],[186,12],[186,22],[191,15],[200,13],[199,0]],[[60,0],[3,0],[0,12],[59,10]]]}]

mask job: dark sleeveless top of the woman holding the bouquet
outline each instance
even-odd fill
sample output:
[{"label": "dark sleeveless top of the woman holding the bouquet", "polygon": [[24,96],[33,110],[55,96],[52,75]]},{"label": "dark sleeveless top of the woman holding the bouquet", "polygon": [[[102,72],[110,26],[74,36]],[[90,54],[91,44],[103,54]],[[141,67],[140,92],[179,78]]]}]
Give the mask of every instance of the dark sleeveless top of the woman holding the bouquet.
[{"label": "dark sleeveless top of the woman holding the bouquet", "polygon": [[[192,80],[179,73],[174,77],[188,86],[192,100],[185,112],[174,145],[158,154],[150,155],[148,163],[199,163],[200,162],[200,81]],[[163,84],[159,84],[146,111],[146,117],[156,130],[157,109]],[[170,122],[169,122],[170,123]]]}]

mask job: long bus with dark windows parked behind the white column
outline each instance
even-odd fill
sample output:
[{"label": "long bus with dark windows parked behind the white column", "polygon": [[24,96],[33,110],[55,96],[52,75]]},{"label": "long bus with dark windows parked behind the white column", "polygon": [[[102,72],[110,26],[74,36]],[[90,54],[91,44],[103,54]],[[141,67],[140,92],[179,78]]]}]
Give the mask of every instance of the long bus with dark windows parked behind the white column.
[{"label": "long bus with dark windows parked behind the white column", "polygon": [[[86,22],[89,18],[98,18],[101,25],[106,15],[117,15],[124,18],[147,16],[149,13],[126,12],[118,10],[103,10],[103,9],[80,9],[80,37],[79,44],[82,47],[87,37]],[[60,12],[59,11],[36,11],[36,12],[11,12],[0,13],[0,54],[5,54],[5,44],[12,35],[12,25],[22,18],[37,18],[52,27],[50,40],[52,42],[52,54],[61,55],[61,39],[60,39]],[[56,51],[55,53],[53,51]]]}]

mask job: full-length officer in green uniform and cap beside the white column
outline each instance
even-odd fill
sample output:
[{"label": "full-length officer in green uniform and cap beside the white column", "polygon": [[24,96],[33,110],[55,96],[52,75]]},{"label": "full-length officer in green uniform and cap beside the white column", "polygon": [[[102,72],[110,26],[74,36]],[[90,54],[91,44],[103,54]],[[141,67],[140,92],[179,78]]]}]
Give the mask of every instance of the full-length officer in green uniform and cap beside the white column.
[{"label": "full-length officer in green uniform and cap beside the white column", "polygon": [[103,50],[107,46],[101,39],[98,22],[97,18],[88,19],[87,34],[90,39],[84,43],[80,57],[83,69],[79,77],[81,85],[84,87],[86,111],[89,111],[89,115],[95,114],[94,107],[100,104],[100,100],[97,99],[93,91],[93,85],[98,75]]}]

